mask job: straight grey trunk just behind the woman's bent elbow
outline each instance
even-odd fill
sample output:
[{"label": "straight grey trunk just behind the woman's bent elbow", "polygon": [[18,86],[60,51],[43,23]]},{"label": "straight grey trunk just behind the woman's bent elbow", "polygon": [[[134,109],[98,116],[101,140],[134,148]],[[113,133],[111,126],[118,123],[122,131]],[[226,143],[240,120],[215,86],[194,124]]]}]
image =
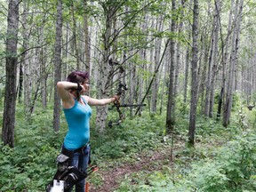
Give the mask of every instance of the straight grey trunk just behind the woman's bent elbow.
[{"label": "straight grey trunk just behind the woman's bent elbow", "polygon": [[60,130],[60,97],[58,96],[56,84],[61,80],[61,38],[62,38],[62,0],[57,4],[57,20],[55,34],[55,57],[54,57],[54,111],[53,129],[55,132]]}]

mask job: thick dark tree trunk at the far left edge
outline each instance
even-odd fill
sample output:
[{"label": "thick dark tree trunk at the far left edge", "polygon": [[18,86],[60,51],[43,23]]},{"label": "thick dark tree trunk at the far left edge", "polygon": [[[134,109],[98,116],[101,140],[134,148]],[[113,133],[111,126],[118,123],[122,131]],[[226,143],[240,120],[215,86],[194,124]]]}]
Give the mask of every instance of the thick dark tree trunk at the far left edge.
[{"label": "thick dark tree trunk at the far left edge", "polygon": [[19,28],[19,0],[11,0],[8,5],[8,27],[6,39],[5,94],[2,140],[4,145],[14,147],[15,101],[17,80],[17,44]]}]

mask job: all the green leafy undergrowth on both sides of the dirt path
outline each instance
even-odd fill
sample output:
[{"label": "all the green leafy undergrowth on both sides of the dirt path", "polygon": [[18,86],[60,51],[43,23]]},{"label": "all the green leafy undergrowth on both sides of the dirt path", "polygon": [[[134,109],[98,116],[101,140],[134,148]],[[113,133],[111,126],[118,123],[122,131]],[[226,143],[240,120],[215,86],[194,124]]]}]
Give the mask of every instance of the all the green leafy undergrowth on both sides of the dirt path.
[{"label": "all the green leafy undergrowth on both sides of the dirt path", "polygon": [[[115,113],[108,115],[113,119]],[[198,116],[196,148],[187,148],[188,116],[177,117],[174,137],[173,162],[159,162],[159,170],[134,172],[120,180],[116,191],[255,191],[256,190],[256,135],[252,114],[248,124],[233,116],[235,124],[223,128],[220,122]],[[122,124],[107,128],[100,134],[91,125],[92,161],[100,169],[140,161],[141,154],[172,145],[172,137],[164,135],[165,115],[126,116]],[[60,132],[53,132],[52,109],[37,109],[26,122],[23,109],[17,108],[15,148],[0,144],[0,190],[44,191],[56,172],[55,159],[67,132],[61,114]],[[167,138],[167,139],[166,139]],[[156,162],[152,163],[157,165]],[[97,175],[97,174],[95,174]],[[89,179],[101,185],[100,177]]]}]

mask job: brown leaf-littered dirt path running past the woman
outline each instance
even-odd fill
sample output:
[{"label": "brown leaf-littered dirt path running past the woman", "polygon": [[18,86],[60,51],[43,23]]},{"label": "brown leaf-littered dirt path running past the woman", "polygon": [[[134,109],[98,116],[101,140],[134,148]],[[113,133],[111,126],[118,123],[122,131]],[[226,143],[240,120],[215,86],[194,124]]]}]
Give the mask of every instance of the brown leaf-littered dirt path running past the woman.
[{"label": "brown leaf-littered dirt path running past the woman", "polygon": [[124,177],[129,176],[134,172],[159,171],[162,169],[163,162],[166,162],[166,160],[172,164],[172,161],[170,161],[171,148],[164,148],[164,150],[161,151],[154,151],[152,154],[152,156],[140,156],[140,160],[134,163],[126,163],[119,167],[108,169],[108,171],[99,170],[98,174],[100,174],[100,177],[103,180],[103,184],[100,185],[99,188],[96,188],[90,184],[90,192],[113,192],[116,188],[119,187],[120,180],[124,180]]}]

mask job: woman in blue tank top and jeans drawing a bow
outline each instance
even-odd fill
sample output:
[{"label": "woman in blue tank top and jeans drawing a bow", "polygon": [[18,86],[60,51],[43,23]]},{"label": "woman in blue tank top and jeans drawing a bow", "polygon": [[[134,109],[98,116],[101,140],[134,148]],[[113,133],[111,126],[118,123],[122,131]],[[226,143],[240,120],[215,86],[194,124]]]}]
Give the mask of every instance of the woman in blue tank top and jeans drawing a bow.
[{"label": "woman in blue tank top and jeans drawing a bow", "polygon": [[[84,95],[89,91],[89,74],[82,71],[74,71],[68,75],[67,81],[57,83],[57,92],[62,100],[62,107],[68,123],[68,133],[65,137],[63,150],[72,151],[70,165],[76,166],[86,172],[89,161],[90,146],[90,106],[103,106],[119,100],[115,95],[108,99],[92,99]],[[85,180],[76,184],[76,192],[84,192]],[[70,188],[72,191],[72,188]]]}]

